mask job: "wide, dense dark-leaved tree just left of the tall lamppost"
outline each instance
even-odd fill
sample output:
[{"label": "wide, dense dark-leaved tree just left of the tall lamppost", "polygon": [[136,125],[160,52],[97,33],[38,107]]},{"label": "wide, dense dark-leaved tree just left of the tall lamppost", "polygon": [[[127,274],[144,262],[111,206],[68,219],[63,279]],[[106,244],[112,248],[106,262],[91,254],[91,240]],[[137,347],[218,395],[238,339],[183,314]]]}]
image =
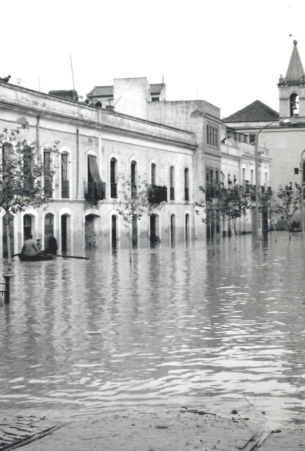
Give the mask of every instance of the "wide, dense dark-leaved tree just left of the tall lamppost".
[{"label": "wide, dense dark-leaved tree just left of the tall lamppost", "polygon": [[[219,211],[222,217],[224,216],[227,219],[234,220],[237,217],[245,215],[247,209],[250,208],[250,191],[247,183],[245,186],[229,185],[229,187],[226,188],[223,182],[221,182],[216,185],[207,185],[206,189],[199,186],[199,189],[206,193],[206,202],[208,202],[196,202],[196,206],[204,209],[205,214],[202,218],[204,223],[210,218],[210,212],[216,214],[216,211]],[[211,199],[215,200],[211,201]],[[199,214],[199,210],[195,210],[195,212]],[[235,235],[235,221],[233,221],[233,228]]]}]

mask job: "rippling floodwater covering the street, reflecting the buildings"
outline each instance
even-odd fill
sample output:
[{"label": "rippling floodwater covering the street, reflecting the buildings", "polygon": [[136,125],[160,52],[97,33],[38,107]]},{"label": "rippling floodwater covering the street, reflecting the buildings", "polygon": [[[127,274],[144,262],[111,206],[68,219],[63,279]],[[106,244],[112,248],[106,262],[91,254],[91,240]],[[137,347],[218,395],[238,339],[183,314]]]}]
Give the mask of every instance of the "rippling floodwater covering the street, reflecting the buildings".
[{"label": "rippling floodwater covering the street, reflecting the buildings", "polygon": [[58,411],[165,405],[243,402],[302,422],[299,234],[270,234],[262,247],[251,236],[157,245],[133,250],[131,264],[128,250],[87,256],[12,264],[11,302],[0,307],[0,444],[18,413],[23,434]]}]

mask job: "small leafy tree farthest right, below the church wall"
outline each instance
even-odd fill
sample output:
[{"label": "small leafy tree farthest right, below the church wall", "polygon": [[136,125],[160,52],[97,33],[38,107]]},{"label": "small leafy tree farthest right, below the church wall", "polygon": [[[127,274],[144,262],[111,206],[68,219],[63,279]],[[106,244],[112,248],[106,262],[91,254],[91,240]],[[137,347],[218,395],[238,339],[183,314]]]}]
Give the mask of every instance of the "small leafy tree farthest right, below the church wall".
[{"label": "small leafy tree farthest right, below the church wall", "polygon": [[289,240],[290,236],[290,219],[299,208],[301,200],[301,188],[298,183],[292,184],[290,181],[285,186],[280,186],[277,199],[274,206],[274,212],[280,215],[281,219],[285,219],[288,224]]}]

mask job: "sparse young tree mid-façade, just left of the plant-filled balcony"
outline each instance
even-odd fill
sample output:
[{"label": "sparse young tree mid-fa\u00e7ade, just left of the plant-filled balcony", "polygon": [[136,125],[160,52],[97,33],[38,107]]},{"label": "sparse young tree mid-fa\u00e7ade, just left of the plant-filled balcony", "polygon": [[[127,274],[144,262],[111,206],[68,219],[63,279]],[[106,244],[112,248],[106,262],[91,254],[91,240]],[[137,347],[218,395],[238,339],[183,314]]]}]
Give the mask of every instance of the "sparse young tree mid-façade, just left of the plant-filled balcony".
[{"label": "sparse young tree mid-fa\u00e7ade, just left of the plant-filled balcony", "polygon": [[133,226],[137,221],[147,212],[148,207],[148,183],[146,180],[141,180],[137,177],[134,183],[130,179],[126,179],[124,174],[118,174],[118,181],[120,182],[120,191],[118,201],[116,202],[116,209],[118,214],[124,221],[126,228],[131,228],[130,240],[130,261],[131,261],[131,244]]}]

